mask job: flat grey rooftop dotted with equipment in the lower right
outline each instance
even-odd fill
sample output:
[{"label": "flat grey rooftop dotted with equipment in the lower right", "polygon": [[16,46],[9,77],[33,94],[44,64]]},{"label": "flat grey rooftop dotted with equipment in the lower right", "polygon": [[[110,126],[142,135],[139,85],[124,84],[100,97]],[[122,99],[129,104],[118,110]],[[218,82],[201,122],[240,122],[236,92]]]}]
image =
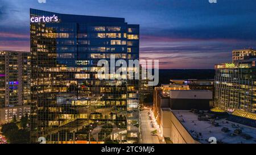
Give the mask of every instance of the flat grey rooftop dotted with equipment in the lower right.
[{"label": "flat grey rooftop dotted with equipment in the lower right", "polygon": [[[191,111],[172,110],[177,119],[187,129],[191,136],[200,143],[209,143],[209,137],[216,137],[217,141],[228,144],[256,144],[256,128],[246,125],[230,122],[226,119],[218,119],[214,121],[214,125],[210,121],[198,120],[198,115]],[[207,113],[205,113],[207,115]],[[210,115],[210,114],[209,114]],[[222,128],[228,128],[228,132],[221,131]],[[234,135],[236,129],[241,129],[240,135]],[[251,136],[246,140],[245,137]]]}]

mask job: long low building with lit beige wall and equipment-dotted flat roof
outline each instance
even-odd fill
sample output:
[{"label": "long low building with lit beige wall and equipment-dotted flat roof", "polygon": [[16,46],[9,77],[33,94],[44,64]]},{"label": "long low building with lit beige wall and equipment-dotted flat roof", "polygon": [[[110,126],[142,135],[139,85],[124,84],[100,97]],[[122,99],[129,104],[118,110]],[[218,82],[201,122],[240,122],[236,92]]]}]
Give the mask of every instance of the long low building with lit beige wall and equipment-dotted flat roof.
[{"label": "long low building with lit beige wall and equipment-dotted flat roof", "polygon": [[160,130],[174,144],[256,144],[255,128],[212,117],[203,111],[162,108]]}]

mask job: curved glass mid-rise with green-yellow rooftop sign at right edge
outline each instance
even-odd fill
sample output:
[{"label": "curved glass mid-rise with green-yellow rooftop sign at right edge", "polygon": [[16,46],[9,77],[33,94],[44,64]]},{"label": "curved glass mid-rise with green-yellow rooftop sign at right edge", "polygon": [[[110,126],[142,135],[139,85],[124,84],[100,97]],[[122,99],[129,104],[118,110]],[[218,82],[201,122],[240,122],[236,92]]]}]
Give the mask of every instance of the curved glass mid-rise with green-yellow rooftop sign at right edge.
[{"label": "curved glass mid-rise with green-yellow rooftop sign at right edge", "polygon": [[215,65],[215,104],[230,112],[256,113],[256,58],[237,59]]}]

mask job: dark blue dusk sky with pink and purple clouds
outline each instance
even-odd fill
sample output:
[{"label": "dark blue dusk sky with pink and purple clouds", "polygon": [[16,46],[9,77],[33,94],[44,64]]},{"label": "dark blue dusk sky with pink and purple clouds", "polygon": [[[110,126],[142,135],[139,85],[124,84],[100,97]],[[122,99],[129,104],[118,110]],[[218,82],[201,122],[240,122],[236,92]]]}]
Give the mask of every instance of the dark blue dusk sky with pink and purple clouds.
[{"label": "dark blue dusk sky with pink and purple clouds", "polygon": [[141,58],[162,69],[209,69],[256,48],[256,0],[0,0],[0,50],[29,51],[30,8],[140,24]]}]

